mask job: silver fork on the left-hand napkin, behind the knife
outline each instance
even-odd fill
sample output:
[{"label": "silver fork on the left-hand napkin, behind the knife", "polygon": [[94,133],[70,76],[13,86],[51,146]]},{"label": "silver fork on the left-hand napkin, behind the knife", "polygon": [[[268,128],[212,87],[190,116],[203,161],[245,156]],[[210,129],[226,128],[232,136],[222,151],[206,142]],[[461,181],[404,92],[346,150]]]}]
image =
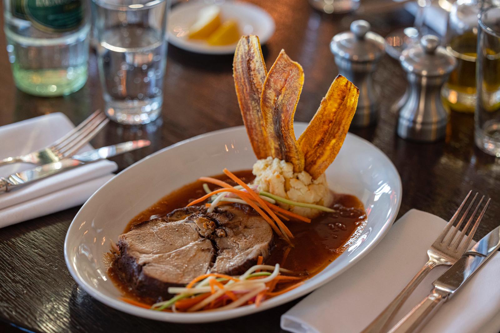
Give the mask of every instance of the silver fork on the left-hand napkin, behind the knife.
[{"label": "silver fork on the left-hand napkin, behind the knife", "polygon": [[97,110],[46,148],[20,156],[4,158],[0,160],[0,166],[18,162],[37,165],[57,162],[61,158],[69,157],[78,151],[78,149],[90,141],[108,121],[109,119],[106,118],[106,115],[100,110]]}]

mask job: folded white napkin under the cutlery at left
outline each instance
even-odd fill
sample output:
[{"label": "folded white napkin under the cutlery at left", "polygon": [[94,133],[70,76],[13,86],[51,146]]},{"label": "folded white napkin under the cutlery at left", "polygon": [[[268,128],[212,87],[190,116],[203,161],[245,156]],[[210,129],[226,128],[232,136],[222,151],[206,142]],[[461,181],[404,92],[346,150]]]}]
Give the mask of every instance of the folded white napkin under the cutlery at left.
[{"label": "folded white napkin under the cutlery at left", "polygon": [[[43,148],[63,136],[74,125],[62,113],[50,113],[0,127],[0,157],[15,156]],[[86,144],[79,152],[93,149]],[[15,163],[0,166],[0,175],[30,169],[35,165]],[[67,209],[85,202],[113,177],[117,165],[102,160],[25,186],[0,193],[0,227]]]}]

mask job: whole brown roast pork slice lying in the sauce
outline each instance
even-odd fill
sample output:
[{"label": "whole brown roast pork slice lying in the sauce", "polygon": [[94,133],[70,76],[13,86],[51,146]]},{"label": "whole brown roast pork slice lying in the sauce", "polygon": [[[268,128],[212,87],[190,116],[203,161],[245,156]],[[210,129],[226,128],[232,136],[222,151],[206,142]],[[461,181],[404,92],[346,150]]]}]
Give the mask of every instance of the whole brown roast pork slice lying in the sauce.
[{"label": "whole brown roast pork slice lying in the sauce", "polygon": [[120,235],[115,267],[140,295],[165,299],[169,286],[209,271],[241,274],[271,246],[272,229],[258,214],[229,205],[211,213],[191,206]]}]

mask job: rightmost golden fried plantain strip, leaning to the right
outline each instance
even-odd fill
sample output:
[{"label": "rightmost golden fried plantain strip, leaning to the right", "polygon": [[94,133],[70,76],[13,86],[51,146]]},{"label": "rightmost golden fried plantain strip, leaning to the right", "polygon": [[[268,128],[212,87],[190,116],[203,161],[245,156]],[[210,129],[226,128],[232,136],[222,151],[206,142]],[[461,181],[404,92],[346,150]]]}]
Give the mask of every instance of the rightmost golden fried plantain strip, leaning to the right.
[{"label": "rightmost golden fried plantain strip, leaning to the right", "polygon": [[315,179],[333,162],[356,110],[359,89],[344,76],[335,77],[298,144],[305,170]]}]

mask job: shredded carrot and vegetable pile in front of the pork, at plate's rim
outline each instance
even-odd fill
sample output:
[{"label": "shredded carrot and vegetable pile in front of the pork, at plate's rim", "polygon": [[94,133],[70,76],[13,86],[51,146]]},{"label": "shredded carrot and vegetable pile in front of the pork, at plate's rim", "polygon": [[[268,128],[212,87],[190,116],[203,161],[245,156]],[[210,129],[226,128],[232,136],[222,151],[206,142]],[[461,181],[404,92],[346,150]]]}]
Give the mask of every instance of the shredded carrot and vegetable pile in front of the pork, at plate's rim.
[{"label": "shredded carrot and vegetable pile in front of the pork, at plate's rim", "polygon": [[[261,262],[261,257],[257,262]],[[122,300],[140,307],[158,311],[193,312],[200,310],[224,310],[246,304],[260,303],[270,297],[291,290],[303,282],[294,283],[275,291],[278,283],[290,283],[302,279],[300,276],[282,275],[292,271],[274,266],[256,264],[240,276],[208,273],[195,277],[185,287],[169,287],[175,294],[171,299],[152,306],[123,298]]]}]

